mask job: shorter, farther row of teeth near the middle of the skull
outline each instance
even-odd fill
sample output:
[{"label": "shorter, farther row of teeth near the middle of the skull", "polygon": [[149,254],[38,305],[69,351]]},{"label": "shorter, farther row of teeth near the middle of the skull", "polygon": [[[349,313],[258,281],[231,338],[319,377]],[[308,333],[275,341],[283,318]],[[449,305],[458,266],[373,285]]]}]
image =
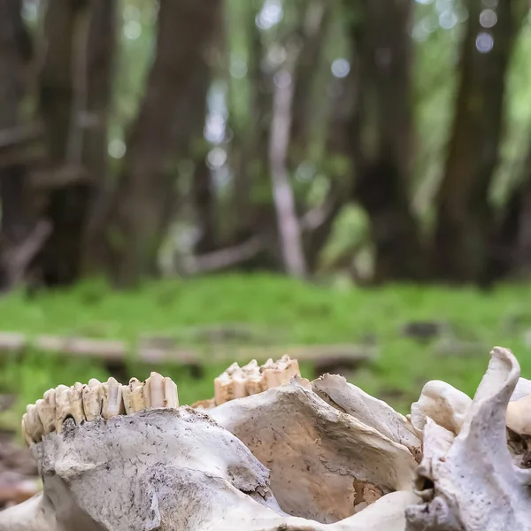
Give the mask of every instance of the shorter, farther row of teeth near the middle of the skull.
[{"label": "shorter, farther row of teeth near the middle of the skull", "polygon": [[246,366],[233,363],[227,371],[214,380],[214,404],[225,404],[235,398],[257,395],[267,389],[279,387],[288,383],[300,370],[296,359],[288,355],[278,361],[268,359],[263,366],[258,366],[253,359]]}]

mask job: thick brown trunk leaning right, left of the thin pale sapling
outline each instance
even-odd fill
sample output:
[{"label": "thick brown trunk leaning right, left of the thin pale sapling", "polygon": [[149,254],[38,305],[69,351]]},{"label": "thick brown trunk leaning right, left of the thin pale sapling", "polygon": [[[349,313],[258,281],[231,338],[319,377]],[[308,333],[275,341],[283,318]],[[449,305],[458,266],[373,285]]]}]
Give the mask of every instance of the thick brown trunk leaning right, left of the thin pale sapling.
[{"label": "thick brown trunk leaning right, left of the thin pale sapling", "polygon": [[[190,72],[205,61],[219,27],[220,8],[220,0],[211,0],[208,8],[196,0],[159,4],[156,57],[128,136],[113,209],[113,273],[121,286],[157,269],[175,195],[174,175],[167,167],[173,110],[188,96]],[[181,45],[176,46],[176,38]]]}]

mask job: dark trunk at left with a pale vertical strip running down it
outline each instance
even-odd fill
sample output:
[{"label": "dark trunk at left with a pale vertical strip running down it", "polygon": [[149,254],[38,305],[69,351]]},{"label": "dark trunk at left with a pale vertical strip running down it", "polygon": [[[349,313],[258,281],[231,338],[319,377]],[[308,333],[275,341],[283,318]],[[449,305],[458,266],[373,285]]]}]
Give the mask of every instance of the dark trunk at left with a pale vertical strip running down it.
[{"label": "dark trunk at left with a pale vertical strip running down it", "polygon": [[45,212],[53,232],[39,258],[49,286],[80,277],[86,238],[94,241],[94,227],[101,228],[93,217],[87,234],[105,176],[115,9],[114,0],[50,0],[45,16],[40,112],[49,164],[77,175],[49,189]]}]

